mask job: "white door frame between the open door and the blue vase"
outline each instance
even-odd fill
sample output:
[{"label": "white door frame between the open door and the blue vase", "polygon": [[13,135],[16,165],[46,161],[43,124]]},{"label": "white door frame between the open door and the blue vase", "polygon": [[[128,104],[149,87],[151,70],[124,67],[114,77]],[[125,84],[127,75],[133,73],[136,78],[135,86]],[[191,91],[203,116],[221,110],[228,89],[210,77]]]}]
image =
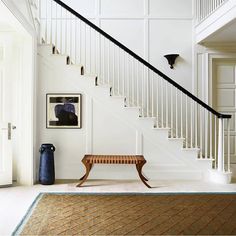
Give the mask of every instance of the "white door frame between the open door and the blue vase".
[{"label": "white door frame between the open door and the blue vase", "polygon": [[[23,13],[12,1],[2,0],[9,13],[20,23],[27,40],[22,43],[21,50],[27,50],[28,58],[24,63],[21,60],[21,93],[20,108],[22,118],[20,120],[21,129],[18,146],[19,159],[17,161],[17,184],[33,185],[36,180],[35,171],[35,143],[36,143],[36,65],[37,65],[37,33],[33,24],[30,24]],[[25,1],[29,4],[28,1]],[[21,30],[21,31],[22,31]]]}]

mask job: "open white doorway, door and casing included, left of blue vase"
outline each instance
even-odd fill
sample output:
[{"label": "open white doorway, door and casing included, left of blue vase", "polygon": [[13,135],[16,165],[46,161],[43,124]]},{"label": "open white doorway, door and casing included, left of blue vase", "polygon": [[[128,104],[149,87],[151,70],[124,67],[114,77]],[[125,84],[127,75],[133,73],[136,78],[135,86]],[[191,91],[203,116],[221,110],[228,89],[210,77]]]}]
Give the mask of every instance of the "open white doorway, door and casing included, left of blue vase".
[{"label": "open white doorway, door and casing included, left of blue vase", "polygon": [[34,37],[0,1],[0,185],[34,178]]}]

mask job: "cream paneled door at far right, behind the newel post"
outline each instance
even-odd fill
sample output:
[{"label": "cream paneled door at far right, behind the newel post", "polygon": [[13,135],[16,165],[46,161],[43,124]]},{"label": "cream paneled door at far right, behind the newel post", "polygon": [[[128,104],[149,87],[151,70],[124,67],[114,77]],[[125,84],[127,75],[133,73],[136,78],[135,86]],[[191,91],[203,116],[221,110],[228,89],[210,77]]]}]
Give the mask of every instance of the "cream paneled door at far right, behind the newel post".
[{"label": "cream paneled door at far right, behind the newel post", "polygon": [[[230,156],[231,164],[236,163],[236,60],[215,61],[213,104],[217,111],[232,115],[230,124]],[[227,138],[225,142],[227,142]],[[227,143],[225,143],[225,146],[227,147]]]}]

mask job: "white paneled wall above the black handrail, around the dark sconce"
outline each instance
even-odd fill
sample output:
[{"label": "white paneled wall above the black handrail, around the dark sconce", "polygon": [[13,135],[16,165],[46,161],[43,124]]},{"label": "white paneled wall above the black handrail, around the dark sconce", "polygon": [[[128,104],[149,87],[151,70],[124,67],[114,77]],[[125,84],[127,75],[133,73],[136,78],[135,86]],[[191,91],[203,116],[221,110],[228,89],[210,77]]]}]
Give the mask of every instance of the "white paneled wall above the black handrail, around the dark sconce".
[{"label": "white paneled wall above the black handrail, around the dark sconce", "polygon": [[[63,0],[187,89],[192,89],[191,0]],[[163,57],[178,53],[175,69]]]}]

